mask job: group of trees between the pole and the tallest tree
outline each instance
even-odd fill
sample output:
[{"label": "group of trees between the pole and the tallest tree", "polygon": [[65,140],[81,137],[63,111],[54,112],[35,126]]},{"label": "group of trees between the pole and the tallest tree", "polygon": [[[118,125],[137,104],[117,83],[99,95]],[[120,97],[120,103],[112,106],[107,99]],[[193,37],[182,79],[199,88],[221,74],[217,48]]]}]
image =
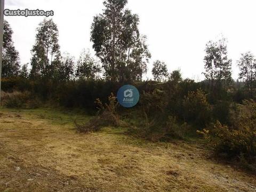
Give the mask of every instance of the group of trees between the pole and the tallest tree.
[{"label": "group of trees between the pole and the tallest tree", "polygon": [[[20,66],[19,53],[12,41],[13,31],[4,21],[2,77],[22,77],[30,80],[49,79],[67,82],[73,79],[99,78],[101,67],[89,51],[82,50],[77,62],[68,53],[60,53],[57,25],[44,19],[37,28],[36,42],[31,49],[31,62]],[[76,63],[76,66],[75,66]],[[30,69],[29,65],[30,64]]]}]

